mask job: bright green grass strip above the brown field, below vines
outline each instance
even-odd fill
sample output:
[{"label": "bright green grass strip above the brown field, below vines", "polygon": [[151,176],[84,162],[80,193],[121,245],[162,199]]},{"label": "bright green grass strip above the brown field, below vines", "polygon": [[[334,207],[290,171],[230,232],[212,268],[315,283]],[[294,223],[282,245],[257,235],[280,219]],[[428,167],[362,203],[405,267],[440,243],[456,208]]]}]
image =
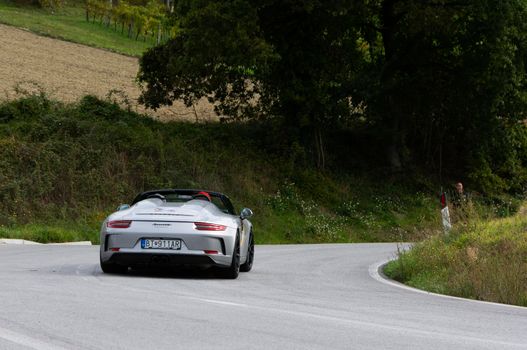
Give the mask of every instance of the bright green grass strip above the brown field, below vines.
[{"label": "bright green grass strip above the brown field, below vines", "polygon": [[113,27],[86,22],[82,4],[70,5],[55,13],[35,6],[22,6],[0,0],[0,23],[34,33],[79,44],[103,48],[129,56],[141,56],[153,41],[135,41],[114,31]]}]

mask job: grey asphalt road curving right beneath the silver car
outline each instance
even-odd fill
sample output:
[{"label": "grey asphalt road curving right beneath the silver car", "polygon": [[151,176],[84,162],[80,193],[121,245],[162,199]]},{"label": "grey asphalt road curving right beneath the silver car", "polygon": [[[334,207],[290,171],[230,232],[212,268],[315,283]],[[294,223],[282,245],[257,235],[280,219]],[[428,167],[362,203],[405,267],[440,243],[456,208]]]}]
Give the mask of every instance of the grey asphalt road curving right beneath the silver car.
[{"label": "grey asphalt road curving right beneath the silver car", "polygon": [[527,308],[387,285],[395,244],[257,246],[253,271],[102,274],[95,246],[0,246],[0,349],[527,349]]}]

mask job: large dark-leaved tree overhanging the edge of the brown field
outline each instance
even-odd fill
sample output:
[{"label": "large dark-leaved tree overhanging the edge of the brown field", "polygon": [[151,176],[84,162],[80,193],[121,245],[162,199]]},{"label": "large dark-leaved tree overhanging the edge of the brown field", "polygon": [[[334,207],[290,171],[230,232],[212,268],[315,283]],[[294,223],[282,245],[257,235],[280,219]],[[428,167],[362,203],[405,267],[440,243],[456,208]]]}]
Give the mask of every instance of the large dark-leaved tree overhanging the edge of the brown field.
[{"label": "large dark-leaved tree overhanging the edge of the brown field", "polygon": [[141,101],[207,97],[228,118],[278,118],[324,167],[324,128],[348,118],[354,1],[176,1],[176,36],[140,61]]}]

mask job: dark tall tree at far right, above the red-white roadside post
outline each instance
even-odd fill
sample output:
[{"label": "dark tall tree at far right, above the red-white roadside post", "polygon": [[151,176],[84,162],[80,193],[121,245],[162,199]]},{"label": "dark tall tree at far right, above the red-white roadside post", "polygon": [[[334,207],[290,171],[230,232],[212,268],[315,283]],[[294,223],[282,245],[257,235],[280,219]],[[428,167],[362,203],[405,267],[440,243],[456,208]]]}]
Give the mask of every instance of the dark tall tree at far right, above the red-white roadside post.
[{"label": "dark tall tree at far right, above the red-white roadside post", "polygon": [[[372,57],[357,80],[394,168],[464,173],[505,120],[525,118],[527,2],[364,1]],[[444,163],[444,162],[443,162]]]}]

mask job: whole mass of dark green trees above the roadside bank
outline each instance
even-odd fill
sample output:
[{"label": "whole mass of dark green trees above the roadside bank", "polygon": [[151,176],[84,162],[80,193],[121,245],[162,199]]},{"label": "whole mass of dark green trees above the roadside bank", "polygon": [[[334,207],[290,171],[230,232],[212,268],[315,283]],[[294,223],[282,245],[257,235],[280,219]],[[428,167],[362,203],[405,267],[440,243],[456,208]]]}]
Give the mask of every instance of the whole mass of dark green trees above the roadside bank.
[{"label": "whole mass of dark green trees above the roadside bank", "polygon": [[393,171],[526,190],[525,0],[176,0],[170,17],[140,62],[149,107],[207,97],[320,168],[342,130]]}]

